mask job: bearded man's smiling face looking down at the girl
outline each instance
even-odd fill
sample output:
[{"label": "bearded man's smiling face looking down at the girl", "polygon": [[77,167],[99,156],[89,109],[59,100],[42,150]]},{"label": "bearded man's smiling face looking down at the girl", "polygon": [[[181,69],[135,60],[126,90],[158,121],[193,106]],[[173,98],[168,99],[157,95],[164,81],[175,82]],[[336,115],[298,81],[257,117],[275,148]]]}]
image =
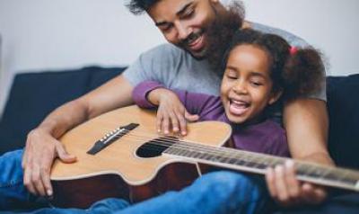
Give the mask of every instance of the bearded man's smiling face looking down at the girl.
[{"label": "bearded man's smiling face looking down at the girl", "polygon": [[147,13],[166,40],[194,58],[206,57],[207,28],[215,21],[218,0],[161,0]]}]

